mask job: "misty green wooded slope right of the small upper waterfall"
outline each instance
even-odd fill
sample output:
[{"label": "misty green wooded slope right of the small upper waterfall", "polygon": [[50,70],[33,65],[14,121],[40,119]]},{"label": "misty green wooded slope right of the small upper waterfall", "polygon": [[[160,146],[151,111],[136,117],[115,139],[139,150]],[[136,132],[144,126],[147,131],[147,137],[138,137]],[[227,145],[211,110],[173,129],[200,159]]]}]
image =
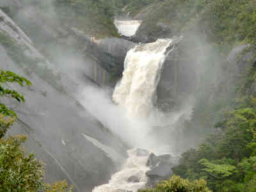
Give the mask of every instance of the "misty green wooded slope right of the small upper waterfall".
[{"label": "misty green wooded slope right of the small upper waterfall", "polygon": [[157,29],[159,22],[163,22],[170,26],[172,35],[183,33],[188,38],[191,32],[200,33],[212,44],[221,46],[221,49],[241,42],[256,42],[254,0],[138,0],[126,5],[125,12],[132,15],[143,8],[150,10],[143,13],[142,24],[147,26],[143,29],[148,29],[148,33]]}]

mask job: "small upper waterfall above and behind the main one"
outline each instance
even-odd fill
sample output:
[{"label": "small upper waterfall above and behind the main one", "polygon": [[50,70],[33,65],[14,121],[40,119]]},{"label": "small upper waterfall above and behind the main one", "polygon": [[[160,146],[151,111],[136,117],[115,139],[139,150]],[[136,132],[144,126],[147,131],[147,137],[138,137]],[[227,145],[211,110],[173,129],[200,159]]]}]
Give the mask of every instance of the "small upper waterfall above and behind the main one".
[{"label": "small upper waterfall above and behind the main one", "polygon": [[141,25],[141,20],[115,20],[118,33],[124,36],[135,35]]}]

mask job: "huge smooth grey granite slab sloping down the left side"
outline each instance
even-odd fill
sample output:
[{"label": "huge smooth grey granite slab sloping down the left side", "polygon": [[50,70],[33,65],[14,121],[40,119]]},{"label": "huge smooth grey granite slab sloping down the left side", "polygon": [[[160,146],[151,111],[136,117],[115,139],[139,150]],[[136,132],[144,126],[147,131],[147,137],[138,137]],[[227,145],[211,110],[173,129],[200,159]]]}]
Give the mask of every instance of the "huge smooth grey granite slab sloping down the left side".
[{"label": "huge smooth grey granite slab sloping down the left side", "polygon": [[1,99],[19,116],[9,134],[28,134],[25,146],[46,163],[48,181],[67,179],[77,191],[106,182],[127,154],[126,145],[76,100],[83,84],[97,85],[84,76],[72,79],[67,68],[45,59],[1,10],[0,18],[0,68],[33,83],[17,86],[25,95],[24,104]]}]

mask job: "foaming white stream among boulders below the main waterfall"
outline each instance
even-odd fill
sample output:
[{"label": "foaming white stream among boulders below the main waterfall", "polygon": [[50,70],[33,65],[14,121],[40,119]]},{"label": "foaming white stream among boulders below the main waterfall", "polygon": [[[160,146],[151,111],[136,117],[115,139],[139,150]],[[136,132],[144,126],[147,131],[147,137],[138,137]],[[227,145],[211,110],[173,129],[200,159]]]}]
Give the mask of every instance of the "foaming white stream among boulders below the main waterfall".
[{"label": "foaming white stream among boulders below the main waterfall", "polygon": [[[98,186],[93,189],[93,192],[136,192],[143,188],[147,183],[145,173],[149,170],[146,166],[148,156],[136,156],[134,150],[128,151],[129,158],[125,162],[120,172],[112,175],[108,184]],[[140,182],[128,182],[127,179],[131,176],[137,176]]]}]

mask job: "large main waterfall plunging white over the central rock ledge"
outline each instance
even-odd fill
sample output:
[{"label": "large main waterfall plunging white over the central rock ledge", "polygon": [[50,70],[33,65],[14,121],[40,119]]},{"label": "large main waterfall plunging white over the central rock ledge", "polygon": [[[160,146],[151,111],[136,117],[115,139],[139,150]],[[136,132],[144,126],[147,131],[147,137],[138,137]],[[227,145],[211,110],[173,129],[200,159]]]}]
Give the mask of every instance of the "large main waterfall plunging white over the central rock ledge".
[{"label": "large main waterfall plunging white over the central rock ledge", "polygon": [[154,111],[161,68],[172,39],[137,45],[125,58],[123,77],[116,85],[113,101],[127,110],[129,117],[148,117]]}]

